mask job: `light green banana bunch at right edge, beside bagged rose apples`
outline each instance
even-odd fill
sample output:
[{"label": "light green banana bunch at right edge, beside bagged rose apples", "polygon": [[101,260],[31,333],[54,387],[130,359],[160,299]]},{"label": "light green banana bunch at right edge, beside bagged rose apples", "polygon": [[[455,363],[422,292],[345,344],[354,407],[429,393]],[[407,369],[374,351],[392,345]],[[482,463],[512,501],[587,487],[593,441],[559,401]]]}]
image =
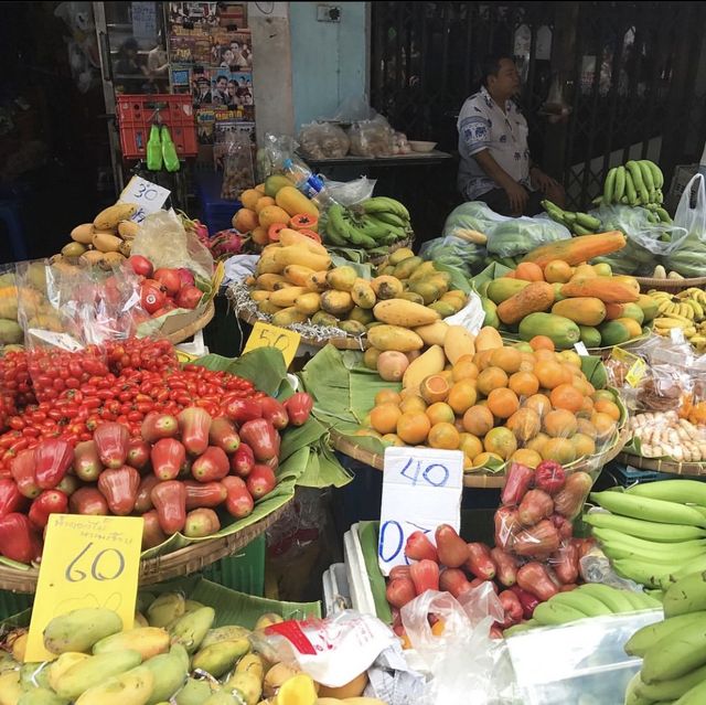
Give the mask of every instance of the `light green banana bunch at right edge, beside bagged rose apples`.
[{"label": "light green banana bunch at right edge, beside bagged rose apples", "polygon": [[618,575],[665,589],[706,570],[706,484],[662,480],[624,492],[593,492],[590,500],[610,512],[591,512],[584,521]]}]

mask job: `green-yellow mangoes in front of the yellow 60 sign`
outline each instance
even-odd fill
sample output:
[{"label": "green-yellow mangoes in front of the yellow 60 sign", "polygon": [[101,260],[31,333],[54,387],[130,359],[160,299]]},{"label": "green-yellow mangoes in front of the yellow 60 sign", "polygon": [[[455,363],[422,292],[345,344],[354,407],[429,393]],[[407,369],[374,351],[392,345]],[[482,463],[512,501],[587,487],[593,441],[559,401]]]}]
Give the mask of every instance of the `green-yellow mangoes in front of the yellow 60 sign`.
[{"label": "green-yellow mangoes in front of the yellow 60 sign", "polygon": [[[217,610],[180,592],[141,595],[145,613],[122,630],[107,608],[83,608],[55,617],[44,630],[44,647],[57,658],[22,663],[26,630],[10,633],[0,663],[3,705],[385,705],[359,697],[367,676],[343,688],[327,688],[285,663],[270,663],[253,650],[249,629],[215,627]],[[265,613],[255,631],[282,622]],[[205,676],[205,677],[204,677]],[[311,693],[310,697],[307,695]],[[342,699],[335,699],[338,696]],[[350,697],[349,697],[350,696]],[[347,699],[346,699],[347,698]],[[320,701],[321,702],[321,701]]]}]

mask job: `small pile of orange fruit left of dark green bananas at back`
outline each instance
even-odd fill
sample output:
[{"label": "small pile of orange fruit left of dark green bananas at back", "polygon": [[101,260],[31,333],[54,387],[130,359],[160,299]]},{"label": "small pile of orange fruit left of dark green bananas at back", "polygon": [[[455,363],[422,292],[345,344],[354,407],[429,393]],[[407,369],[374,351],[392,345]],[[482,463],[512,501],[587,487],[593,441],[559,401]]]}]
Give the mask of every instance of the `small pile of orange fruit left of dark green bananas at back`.
[{"label": "small pile of orange fruit left of dark green bananas at back", "polygon": [[240,194],[243,207],[233,216],[233,227],[249,234],[257,245],[277,242],[277,234],[285,227],[315,235],[319,209],[282,174],[268,177],[265,183],[247,189]]}]

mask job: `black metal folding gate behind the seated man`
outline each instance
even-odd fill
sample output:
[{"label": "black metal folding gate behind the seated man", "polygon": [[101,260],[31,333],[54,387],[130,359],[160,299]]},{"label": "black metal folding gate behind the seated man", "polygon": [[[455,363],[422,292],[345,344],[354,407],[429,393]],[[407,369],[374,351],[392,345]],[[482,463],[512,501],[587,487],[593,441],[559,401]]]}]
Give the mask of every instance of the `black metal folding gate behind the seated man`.
[{"label": "black metal folding gate behind the seated man", "polygon": [[[371,99],[410,139],[454,150],[480,60],[514,54],[533,157],[582,207],[613,163],[652,158],[668,178],[700,150],[705,100],[692,86],[705,19],[698,2],[373,2]],[[538,115],[553,82],[571,107],[565,124]]]}]

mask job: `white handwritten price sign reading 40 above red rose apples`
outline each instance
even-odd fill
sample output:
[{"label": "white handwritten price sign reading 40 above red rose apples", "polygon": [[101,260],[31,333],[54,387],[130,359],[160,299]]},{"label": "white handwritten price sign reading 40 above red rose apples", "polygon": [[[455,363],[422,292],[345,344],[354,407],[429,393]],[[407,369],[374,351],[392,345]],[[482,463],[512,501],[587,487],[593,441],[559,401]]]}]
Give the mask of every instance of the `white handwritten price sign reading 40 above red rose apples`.
[{"label": "white handwritten price sign reading 40 above red rose apples", "polygon": [[383,478],[377,560],[384,575],[405,557],[407,537],[429,534],[439,524],[459,531],[463,491],[463,453],[436,448],[387,448]]}]

